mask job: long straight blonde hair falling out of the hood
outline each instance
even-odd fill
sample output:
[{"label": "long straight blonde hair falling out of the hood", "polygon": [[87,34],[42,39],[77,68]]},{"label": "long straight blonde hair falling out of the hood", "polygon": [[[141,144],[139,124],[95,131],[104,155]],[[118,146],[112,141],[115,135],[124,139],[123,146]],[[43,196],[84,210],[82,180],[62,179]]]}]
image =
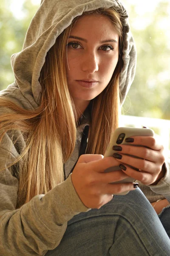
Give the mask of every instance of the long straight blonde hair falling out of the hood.
[{"label": "long straight blonde hair falling out of the hood", "polygon": [[[113,131],[118,127],[123,32],[120,15],[113,8],[83,13],[91,14],[109,17],[120,37],[120,58],[112,79],[105,90],[91,101],[91,127],[86,152],[104,154]],[[20,135],[25,141],[20,157],[7,166],[12,168],[17,165],[18,207],[35,195],[47,193],[64,180],[63,164],[75,147],[77,116],[68,90],[65,61],[62,60],[66,58],[65,45],[71,26],[78,18],[58,36],[46,55],[39,78],[42,86],[39,108],[25,110],[0,97],[0,105],[14,111],[0,116],[0,141],[6,133],[12,134],[12,143],[17,143]],[[1,170],[5,168],[3,166]]]}]

